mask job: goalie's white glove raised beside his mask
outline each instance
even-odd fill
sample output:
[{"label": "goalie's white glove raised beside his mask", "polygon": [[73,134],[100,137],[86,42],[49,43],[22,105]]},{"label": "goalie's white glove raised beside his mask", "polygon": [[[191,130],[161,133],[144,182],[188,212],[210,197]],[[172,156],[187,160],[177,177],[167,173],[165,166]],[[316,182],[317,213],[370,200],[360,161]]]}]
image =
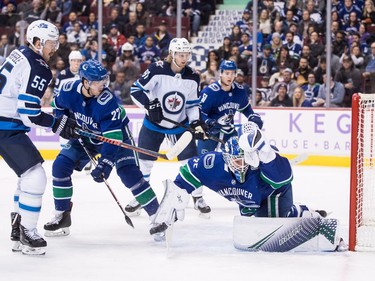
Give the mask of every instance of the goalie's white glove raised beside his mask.
[{"label": "goalie's white glove raised beside his mask", "polygon": [[246,122],[240,130],[239,145],[245,152],[245,161],[252,167],[258,167],[259,162],[269,163],[275,159],[275,151],[264,137],[258,125]]}]

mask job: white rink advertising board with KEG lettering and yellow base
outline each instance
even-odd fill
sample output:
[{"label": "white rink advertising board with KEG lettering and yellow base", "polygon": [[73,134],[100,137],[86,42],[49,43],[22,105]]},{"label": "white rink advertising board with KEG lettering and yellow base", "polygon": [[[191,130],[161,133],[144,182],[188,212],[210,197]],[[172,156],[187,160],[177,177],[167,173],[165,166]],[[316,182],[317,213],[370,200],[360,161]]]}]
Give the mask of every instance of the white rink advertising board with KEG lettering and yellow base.
[{"label": "white rink advertising board with KEG lettering and yellow base", "polygon": [[[350,156],[351,112],[349,109],[255,109],[264,120],[263,132],[272,145],[286,156],[308,154],[304,164],[348,166]],[[138,141],[144,112],[126,107],[129,128]],[[235,124],[245,122],[242,114],[235,116]],[[238,125],[239,126],[239,125]],[[60,149],[59,137],[50,130],[33,128],[29,136],[46,159],[53,159]],[[165,147],[163,147],[165,149]]]}]

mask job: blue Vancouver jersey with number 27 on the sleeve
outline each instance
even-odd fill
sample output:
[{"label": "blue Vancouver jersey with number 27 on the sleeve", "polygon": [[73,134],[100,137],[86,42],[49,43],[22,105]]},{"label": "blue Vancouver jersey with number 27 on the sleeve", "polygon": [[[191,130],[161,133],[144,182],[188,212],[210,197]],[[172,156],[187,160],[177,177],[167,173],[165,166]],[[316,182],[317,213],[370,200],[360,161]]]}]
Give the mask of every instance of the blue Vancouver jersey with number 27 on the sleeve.
[{"label": "blue Vancouver jersey with number 27 on the sleeve", "polygon": [[[116,97],[108,88],[104,88],[98,97],[86,98],[81,93],[82,87],[80,80],[68,81],[61,85],[53,101],[56,115],[71,112],[83,130],[107,138],[124,140],[124,136],[128,136],[129,119],[125,109],[117,103]],[[103,143],[101,154],[103,157],[111,158],[117,150],[117,146]]]}]

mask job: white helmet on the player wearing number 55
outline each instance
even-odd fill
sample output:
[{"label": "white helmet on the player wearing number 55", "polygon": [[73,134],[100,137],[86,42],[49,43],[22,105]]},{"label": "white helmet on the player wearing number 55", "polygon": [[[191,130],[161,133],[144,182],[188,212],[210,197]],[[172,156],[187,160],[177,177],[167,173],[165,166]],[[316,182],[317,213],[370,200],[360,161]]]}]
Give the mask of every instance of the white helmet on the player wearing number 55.
[{"label": "white helmet on the player wearing number 55", "polygon": [[59,48],[59,30],[57,27],[45,20],[33,21],[27,28],[26,39],[31,46],[34,46],[34,38],[40,39],[42,47],[45,46],[46,42],[56,42],[56,50]]}]

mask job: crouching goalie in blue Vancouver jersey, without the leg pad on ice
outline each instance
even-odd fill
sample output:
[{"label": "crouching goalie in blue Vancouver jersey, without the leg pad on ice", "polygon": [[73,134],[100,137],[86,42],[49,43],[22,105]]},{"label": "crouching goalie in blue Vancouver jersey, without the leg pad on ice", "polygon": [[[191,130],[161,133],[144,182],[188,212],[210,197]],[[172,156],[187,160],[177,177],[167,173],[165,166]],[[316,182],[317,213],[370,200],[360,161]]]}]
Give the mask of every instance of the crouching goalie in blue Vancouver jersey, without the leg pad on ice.
[{"label": "crouching goalie in blue Vancouver jersey, without the leg pad on ice", "polygon": [[[187,195],[202,185],[236,202],[242,216],[321,217],[325,211],[293,204],[292,168],[287,158],[271,147],[253,122],[245,123],[240,137],[232,137],[223,152],[194,157],[180,168],[166,192],[155,222],[171,225],[183,219]],[[151,232],[157,229],[151,229]]]}]

